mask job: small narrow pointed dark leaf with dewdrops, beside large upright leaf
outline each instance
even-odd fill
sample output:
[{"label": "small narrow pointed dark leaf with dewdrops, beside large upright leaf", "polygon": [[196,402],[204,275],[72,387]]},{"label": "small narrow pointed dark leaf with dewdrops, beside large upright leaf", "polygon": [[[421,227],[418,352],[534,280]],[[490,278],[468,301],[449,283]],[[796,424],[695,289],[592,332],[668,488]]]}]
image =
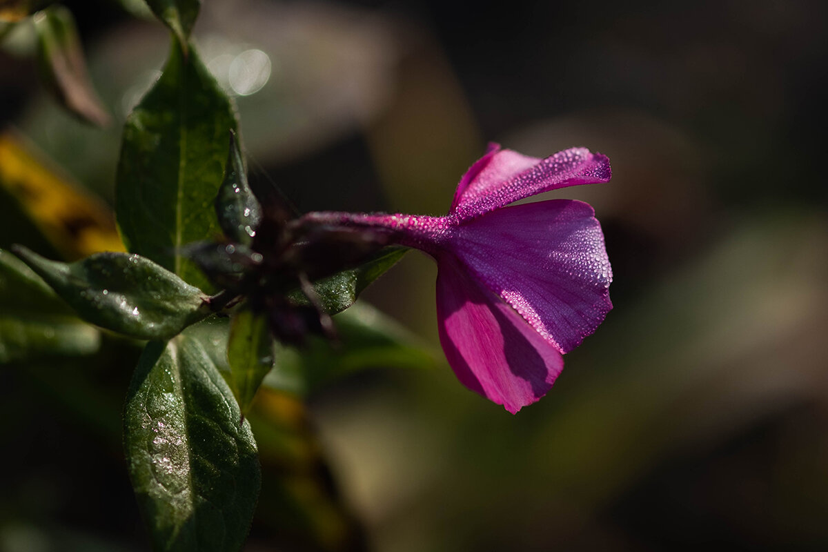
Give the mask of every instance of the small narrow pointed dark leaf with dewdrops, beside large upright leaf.
[{"label": "small narrow pointed dark leaf with dewdrops, beside large upright leaf", "polygon": [[215,214],[225,236],[244,245],[253,243],[253,236],[262,219],[262,207],[248,186],[247,172],[234,132],[230,134],[224,182],[215,198]]}]

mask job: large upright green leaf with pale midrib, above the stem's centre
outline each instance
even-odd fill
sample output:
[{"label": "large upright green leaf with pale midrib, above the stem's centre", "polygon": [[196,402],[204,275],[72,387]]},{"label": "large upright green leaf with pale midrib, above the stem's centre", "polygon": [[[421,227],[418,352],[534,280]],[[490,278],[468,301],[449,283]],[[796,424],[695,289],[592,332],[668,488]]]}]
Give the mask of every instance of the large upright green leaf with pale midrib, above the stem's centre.
[{"label": "large upright green leaf with pale midrib, above the stem's centre", "polygon": [[115,211],[124,242],[203,290],[209,282],[182,247],[221,235],[212,206],[235,127],[229,99],[195,50],[185,59],[173,44],[123,132]]}]

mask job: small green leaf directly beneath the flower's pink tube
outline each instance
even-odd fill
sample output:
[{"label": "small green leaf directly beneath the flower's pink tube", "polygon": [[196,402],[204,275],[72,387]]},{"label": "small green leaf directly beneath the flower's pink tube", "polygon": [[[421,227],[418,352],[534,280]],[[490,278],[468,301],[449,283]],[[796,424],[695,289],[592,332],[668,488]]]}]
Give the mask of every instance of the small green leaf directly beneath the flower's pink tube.
[{"label": "small green leaf directly beneath the flower's pink tube", "polygon": [[[336,314],[354,305],[359,294],[385,271],[397,264],[408,251],[407,247],[386,247],[368,262],[356,268],[337,272],[313,282],[320,306],[328,314]],[[300,305],[309,304],[300,292],[291,294],[291,300]]]}]

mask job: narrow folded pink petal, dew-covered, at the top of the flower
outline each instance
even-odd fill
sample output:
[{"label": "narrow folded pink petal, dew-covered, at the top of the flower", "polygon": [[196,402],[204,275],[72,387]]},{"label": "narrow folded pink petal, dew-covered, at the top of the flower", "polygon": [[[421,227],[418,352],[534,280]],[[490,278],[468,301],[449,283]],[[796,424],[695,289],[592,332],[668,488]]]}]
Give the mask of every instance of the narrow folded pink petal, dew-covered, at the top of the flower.
[{"label": "narrow folded pink petal, dew-covered, at the top of the flower", "polygon": [[546,159],[489,146],[460,180],[449,214],[473,218],[519,199],[549,190],[609,181],[609,159],[584,147],[558,151]]}]

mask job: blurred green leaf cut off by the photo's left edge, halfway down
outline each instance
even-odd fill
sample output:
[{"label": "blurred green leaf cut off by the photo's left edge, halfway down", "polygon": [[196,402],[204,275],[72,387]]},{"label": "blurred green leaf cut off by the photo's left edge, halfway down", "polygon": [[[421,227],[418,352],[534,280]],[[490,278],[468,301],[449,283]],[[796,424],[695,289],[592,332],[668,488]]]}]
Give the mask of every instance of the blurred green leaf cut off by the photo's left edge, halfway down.
[{"label": "blurred green leaf cut off by the photo's left edge, halfway down", "polygon": [[17,257],[0,249],[0,364],[96,352],[100,333]]}]

